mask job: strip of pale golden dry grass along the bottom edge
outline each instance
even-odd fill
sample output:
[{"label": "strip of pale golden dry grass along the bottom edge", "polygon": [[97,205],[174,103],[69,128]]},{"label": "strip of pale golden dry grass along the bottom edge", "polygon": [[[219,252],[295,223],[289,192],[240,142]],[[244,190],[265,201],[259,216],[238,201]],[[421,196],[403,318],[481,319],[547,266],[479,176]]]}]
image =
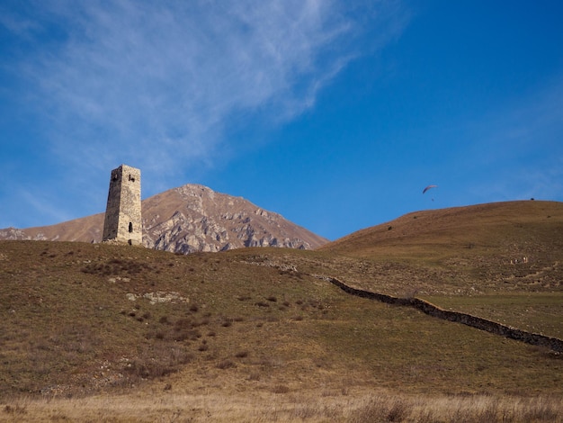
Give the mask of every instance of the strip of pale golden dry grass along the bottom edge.
[{"label": "strip of pale golden dry grass along the bottom edge", "polygon": [[78,422],[466,422],[563,421],[550,396],[404,395],[348,392],[151,392],[0,404],[0,421]]}]

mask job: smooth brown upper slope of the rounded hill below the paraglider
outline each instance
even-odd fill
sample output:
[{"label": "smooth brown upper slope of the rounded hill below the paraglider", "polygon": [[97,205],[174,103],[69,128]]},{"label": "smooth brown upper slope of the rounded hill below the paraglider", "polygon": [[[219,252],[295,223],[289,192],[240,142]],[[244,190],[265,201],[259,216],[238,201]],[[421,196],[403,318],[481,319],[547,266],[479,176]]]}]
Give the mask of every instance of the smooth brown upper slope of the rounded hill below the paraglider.
[{"label": "smooth brown upper slope of the rounded hill below the paraglider", "polygon": [[[370,257],[450,256],[460,249],[493,249],[508,256],[563,250],[563,202],[492,202],[416,211],[362,229],[320,250]],[[521,257],[521,258],[523,258]]]}]

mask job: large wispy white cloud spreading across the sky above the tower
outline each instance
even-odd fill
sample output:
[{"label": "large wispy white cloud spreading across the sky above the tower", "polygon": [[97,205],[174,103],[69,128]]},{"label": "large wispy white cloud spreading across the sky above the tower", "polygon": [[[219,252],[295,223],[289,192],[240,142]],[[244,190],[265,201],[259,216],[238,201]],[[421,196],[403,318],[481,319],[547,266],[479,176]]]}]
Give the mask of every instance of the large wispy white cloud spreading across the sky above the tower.
[{"label": "large wispy white cloud spreading across the sky above the tower", "polygon": [[141,167],[149,193],[190,182],[260,142],[231,128],[275,127],[314,107],[351,60],[401,31],[398,11],[371,0],[6,0],[13,59],[0,67],[17,84],[4,96],[38,118],[40,139],[22,142],[44,143],[35,173],[50,174],[12,185],[15,195],[52,221],[69,207],[57,199],[75,199],[70,214],[102,211],[121,163]]}]

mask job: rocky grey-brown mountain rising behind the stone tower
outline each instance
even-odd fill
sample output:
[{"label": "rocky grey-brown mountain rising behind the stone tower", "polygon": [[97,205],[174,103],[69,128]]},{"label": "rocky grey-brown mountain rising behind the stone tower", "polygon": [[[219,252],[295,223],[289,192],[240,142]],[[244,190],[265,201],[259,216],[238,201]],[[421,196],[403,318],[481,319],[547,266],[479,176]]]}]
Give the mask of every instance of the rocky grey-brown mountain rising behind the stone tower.
[{"label": "rocky grey-brown mountain rising behind the stone tower", "polygon": [[[142,202],[145,247],[183,254],[240,247],[314,249],[327,239],[242,197],[186,184]],[[0,239],[100,242],[103,213],[56,225],[0,229]]]}]

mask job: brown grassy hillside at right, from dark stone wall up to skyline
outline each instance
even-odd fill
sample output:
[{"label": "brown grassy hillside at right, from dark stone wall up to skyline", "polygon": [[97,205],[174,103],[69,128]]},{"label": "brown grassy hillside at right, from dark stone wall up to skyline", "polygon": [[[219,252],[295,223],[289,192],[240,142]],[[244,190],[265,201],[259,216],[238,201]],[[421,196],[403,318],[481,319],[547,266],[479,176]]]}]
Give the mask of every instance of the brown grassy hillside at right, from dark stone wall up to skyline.
[{"label": "brown grassy hillside at right, from dark stone wall up to skyline", "polygon": [[320,251],[357,287],[563,337],[561,202],[418,211]]}]

